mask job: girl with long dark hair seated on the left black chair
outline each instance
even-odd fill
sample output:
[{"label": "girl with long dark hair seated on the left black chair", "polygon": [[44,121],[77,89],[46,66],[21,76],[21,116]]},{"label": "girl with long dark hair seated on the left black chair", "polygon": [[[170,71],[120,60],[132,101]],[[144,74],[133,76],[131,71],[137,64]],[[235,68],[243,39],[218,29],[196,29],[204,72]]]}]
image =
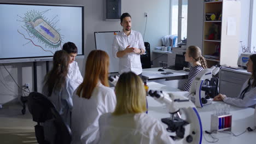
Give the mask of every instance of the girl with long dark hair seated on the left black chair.
[{"label": "girl with long dark hair seated on the left black chair", "polygon": [[[75,90],[73,82],[67,76],[69,57],[66,51],[56,51],[53,56],[53,68],[44,77],[43,94],[55,105],[63,121],[71,125],[72,94]],[[50,119],[44,123],[45,140],[55,140],[54,123]]]}]

